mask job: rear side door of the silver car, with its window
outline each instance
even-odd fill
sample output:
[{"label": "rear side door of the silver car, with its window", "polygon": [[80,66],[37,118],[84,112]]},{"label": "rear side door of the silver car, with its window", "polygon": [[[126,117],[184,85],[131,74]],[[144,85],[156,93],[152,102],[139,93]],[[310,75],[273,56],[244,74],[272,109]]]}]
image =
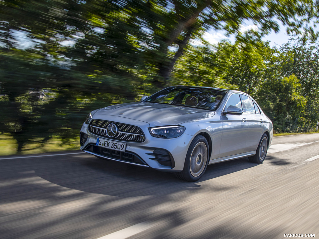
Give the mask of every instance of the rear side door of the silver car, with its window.
[{"label": "rear side door of the silver car, with its window", "polygon": [[256,103],[247,95],[241,94],[243,117],[246,118],[249,130],[246,135],[245,152],[255,151],[263,134],[263,118]]}]

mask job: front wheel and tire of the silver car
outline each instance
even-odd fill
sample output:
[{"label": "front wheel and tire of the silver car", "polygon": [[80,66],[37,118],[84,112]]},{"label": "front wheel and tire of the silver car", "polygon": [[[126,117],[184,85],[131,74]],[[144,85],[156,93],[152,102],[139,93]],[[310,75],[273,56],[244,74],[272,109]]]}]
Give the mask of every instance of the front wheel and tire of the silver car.
[{"label": "front wheel and tire of the silver car", "polygon": [[188,148],[183,171],[176,173],[176,176],[185,181],[195,182],[203,176],[208,161],[208,142],[204,136],[197,135]]}]

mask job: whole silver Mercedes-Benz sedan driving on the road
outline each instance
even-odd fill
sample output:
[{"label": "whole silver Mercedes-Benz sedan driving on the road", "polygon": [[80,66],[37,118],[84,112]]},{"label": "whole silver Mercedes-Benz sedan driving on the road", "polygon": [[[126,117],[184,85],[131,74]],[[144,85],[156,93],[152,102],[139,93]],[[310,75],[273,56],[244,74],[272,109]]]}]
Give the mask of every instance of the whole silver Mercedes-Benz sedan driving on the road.
[{"label": "whole silver Mercedes-Benz sedan driving on the road", "polygon": [[140,102],[93,110],[80,131],[81,150],[98,158],[201,178],[207,165],[248,157],[263,163],[271,120],[241,91],[171,86]]}]

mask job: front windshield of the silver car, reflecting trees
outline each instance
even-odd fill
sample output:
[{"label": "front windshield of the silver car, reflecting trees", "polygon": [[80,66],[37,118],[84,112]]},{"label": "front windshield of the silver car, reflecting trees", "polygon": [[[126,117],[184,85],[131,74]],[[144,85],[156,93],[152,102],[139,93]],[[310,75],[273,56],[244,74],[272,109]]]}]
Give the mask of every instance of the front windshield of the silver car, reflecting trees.
[{"label": "front windshield of the silver car, reflecting trees", "polygon": [[145,102],[180,105],[215,111],[225,91],[208,88],[174,86],[155,93]]}]

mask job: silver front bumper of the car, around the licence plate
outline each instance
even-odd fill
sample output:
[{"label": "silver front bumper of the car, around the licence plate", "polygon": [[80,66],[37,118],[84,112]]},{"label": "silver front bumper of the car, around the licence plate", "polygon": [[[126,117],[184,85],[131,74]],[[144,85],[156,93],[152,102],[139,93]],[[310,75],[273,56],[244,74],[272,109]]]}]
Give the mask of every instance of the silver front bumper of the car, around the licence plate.
[{"label": "silver front bumper of the car, around the licence plate", "polygon": [[[111,120],[115,122],[122,121],[121,117],[113,116],[112,118]],[[98,147],[96,146],[96,139],[102,137],[89,132],[88,125],[84,123],[80,132],[80,149],[95,156],[139,166],[149,166],[160,171],[182,171],[187,150],[193,136],[184,133],[180,137],[173,139],[156,138],[149,133],[149,125],[147,123],[133,121],[137,120],[130,120],[130,124],[136,125],[143,130],[145,134],[144,142],[125,142],[125,152]],[[127,123],[127,121],[125,123]],[[114,139],[111,140],[118,141]]]}]

